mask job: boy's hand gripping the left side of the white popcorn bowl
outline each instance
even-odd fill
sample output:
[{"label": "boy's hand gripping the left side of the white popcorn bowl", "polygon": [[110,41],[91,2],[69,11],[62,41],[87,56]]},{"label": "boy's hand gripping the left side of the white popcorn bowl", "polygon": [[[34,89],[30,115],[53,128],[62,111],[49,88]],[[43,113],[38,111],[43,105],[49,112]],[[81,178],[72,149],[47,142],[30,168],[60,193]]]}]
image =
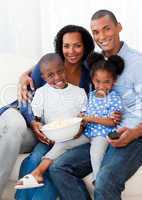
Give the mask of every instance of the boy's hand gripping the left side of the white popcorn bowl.
[{"label": "boy's hand gripping the left side of the white popcorn bowl", "polygon": [[53,144],[54,142],[49,140],[44,133],[41,131],[41,127],[42,127],[42,123],[41,122],[37,122],[37,121],[33,121],[32,124],[32,129],[37,137],[37,139],[44,143],[44,144]]}]

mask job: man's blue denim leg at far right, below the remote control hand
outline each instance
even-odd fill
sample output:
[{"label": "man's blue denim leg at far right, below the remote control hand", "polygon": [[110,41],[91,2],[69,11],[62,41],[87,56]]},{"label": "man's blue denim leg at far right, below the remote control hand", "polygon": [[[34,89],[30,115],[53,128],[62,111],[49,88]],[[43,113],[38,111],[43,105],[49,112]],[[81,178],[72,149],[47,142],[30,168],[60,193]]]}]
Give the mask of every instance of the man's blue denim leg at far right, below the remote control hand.
[{"label": "man's blue denim leg at far right, below the remote control hand", "polygon": [[95,200],[121,200],[125,182],[142,165],[142,138],[124,148],[109,146],[95,182]]}]

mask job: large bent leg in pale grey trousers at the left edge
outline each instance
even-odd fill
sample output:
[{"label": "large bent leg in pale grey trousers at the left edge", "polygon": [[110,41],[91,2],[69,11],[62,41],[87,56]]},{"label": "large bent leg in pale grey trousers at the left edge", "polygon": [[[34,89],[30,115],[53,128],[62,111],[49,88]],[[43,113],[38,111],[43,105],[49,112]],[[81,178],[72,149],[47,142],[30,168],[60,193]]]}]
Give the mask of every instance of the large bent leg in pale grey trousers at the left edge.
[{"label": "large bent leg in pale grey trousers at the left edge", "polygon": [[[8,109],[0,115],[0,196],[7,184],[26,135],[30,135],[30,133],[24,118],[17,110]],[[31,145],[35,144],[35,141],[35,138],[31,136],[28,150],[31,149]]]}]

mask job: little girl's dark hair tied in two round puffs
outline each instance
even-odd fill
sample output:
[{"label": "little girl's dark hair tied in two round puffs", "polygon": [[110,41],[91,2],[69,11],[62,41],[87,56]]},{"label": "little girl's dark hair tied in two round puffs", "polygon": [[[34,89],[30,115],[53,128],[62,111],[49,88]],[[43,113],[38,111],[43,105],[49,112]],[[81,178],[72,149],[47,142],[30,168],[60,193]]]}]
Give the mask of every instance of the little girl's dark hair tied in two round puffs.
[{"label": "little girl's dark hair tied in two round puffs", "polygon": [[114,80],[124,70],[124,60],[118,55],[112,55],[107,59],[102,54],[94,54],[94,62],[91,67],[91,78],[97,70],[105,70],[112,74]]}]

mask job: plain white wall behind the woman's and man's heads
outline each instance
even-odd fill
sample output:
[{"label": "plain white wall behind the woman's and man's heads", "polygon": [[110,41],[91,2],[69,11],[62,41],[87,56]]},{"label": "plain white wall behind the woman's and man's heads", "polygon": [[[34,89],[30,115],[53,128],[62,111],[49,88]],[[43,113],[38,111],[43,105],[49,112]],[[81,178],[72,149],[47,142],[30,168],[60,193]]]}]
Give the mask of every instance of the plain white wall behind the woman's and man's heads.
[{"label": "plain white wall behind the woman's and man's heads", "polygon": [[139,0],[41,0],[40,2],[43,53],[53,49],[54,36],[64,25],[83,25],[90,31],[90,18],[98,9],[113,11],[123,26],[121,38],[142,51],[142,3]]}]

